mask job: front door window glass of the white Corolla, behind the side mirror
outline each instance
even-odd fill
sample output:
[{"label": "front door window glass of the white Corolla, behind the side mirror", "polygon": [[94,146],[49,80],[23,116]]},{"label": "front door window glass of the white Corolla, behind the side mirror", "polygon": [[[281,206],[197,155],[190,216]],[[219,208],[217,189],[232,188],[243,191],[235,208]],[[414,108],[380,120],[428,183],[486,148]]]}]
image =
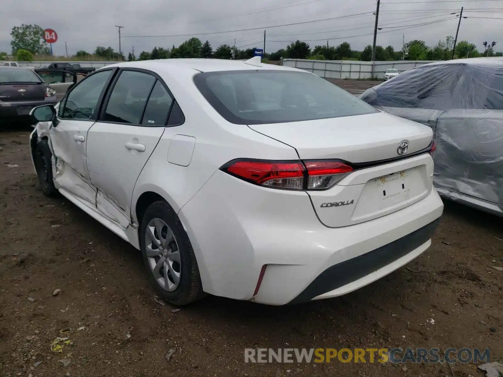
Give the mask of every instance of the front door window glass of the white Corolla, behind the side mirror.
[{"label": "front door window glass of the white Corolla, behind the side mirror", "polygon": [[59,106],[59,117],[91,119],[100,100],[101,92],[111,74],[111,70],[96,72],[80,81],[68,94],[64,106]]}]

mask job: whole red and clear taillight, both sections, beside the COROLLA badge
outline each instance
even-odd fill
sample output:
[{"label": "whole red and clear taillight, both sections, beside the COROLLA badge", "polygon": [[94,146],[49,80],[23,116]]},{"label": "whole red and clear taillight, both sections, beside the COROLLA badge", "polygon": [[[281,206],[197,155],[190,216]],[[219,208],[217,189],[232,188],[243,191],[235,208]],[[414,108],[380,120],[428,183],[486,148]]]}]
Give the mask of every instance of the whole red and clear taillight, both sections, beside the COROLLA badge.
[{"label": "whole red and clear taillight, both sections, beside the COROLLA badge", "polygon": [[353,168],[339,161],[235,160],[221,170],[272,189],[326,190]]}]

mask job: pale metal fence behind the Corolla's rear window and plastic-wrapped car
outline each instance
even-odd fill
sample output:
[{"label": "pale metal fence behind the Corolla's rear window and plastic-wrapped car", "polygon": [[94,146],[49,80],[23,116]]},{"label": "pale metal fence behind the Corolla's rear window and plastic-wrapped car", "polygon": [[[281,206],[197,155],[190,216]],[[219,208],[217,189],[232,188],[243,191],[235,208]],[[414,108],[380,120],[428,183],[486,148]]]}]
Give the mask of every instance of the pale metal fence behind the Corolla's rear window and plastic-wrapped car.
[{"label": "pale metal fence behind the Corolla's rear window and plastic-wrapped car", "polygon": [[418,65],[433,63],[434,60],[397,60],[397,61],[357,61],[357,60],[308,60],[283,59],[282,65],[312,72],[324,78],[365,79],[384,78],[384,72],[396,68],[400,72]]}]

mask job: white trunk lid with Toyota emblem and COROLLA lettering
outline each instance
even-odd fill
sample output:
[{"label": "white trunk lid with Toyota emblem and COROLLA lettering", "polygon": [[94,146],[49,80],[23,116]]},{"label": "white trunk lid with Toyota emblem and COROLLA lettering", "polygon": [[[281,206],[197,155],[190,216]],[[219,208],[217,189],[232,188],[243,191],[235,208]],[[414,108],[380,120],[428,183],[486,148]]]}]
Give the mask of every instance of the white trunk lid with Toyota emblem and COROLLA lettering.
[{"label": "white trunk lid with Toyota emblem and COROLLA lettering", "polygon": [[[372,220],[410,206],[433,190],[432,157],[415,154],[432,141],[428,126],[378,113],[249,127],[292,146],[301,160],[339,159],[354,166],[329,189],[307,191],[325,226]],[[408,149],[400,156],[398,144],[404,140]],[[389,161],[397,157],[402,158]]]}]

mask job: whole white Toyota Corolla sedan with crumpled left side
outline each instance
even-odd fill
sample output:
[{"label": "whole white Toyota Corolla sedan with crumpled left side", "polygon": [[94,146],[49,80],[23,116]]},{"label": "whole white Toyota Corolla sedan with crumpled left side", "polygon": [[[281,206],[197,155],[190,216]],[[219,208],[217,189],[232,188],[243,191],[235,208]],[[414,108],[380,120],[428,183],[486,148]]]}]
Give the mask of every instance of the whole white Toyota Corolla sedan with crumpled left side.
[{"label": "whole white Toyota Corolla sedan with crumpled left side", "polygon": [[423,253],[443,212],[430,127],[260,58],[108,65],[32,117],[43,193],[140,249],[176,305],[344,295]]}]

